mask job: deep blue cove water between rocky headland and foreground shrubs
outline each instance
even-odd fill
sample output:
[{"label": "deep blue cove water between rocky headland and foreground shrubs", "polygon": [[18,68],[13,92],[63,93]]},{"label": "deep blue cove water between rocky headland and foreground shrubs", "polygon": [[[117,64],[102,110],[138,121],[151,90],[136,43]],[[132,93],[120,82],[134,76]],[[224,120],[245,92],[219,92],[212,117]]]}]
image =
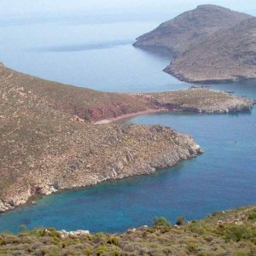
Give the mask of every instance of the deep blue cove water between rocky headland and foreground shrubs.
[{"label": "deep blue cove water between rocky headland and foreground shrubs", "polygon": [[[227,84],[223,88],[242,94],[242,86]],[[247,88],[247,94],[256,98],[256,86]],[[58,230],[122,232],[151,224],[155,216],[174,222],[179,215],[203,218],[214,211],[255,204],[254,109],[239,114],[152,114],[129,122],[167,125],[191,134],[206,153],[151,176],[130,177],[44,197],[38,205],[1,214],[0,231],[17,232],[20,224],[26,224],[29,229],[47,226]]]}]

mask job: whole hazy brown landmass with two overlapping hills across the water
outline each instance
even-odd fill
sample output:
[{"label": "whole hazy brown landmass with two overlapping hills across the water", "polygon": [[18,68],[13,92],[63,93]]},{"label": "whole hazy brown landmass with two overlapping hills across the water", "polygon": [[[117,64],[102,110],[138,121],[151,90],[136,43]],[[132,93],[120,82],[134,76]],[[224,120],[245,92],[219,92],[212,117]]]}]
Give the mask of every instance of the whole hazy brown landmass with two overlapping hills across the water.
[{"label": "whole hazy brown landmass with two overlapping hills across the water", "polygon": [[213,84],[256,79],[256,18],[207,4],[166,21],[134,44],[165,49],[165,68],[185,82]]}]

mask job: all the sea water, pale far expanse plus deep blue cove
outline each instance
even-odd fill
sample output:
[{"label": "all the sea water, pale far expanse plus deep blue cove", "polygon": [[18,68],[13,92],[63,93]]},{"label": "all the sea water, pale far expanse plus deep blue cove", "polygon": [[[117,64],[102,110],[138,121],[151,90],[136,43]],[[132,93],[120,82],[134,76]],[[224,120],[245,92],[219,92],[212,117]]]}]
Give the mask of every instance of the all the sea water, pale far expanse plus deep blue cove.
[{"label": "all the sea water, pale far expanse plus deep blue cove", "polygon": [[[131,46],[134,38],[157,26],[160,17],[166,20],[166,12],[149,13],[1,18],[0,61],[24,73],[96,90],[188,87],[161,72],[170,57]],[[150,19],[145,19],[148,16]],[[256,99],[255,81],[212,88]],[[122,232],[151,224],[154,216],[174,222],[179,215],[203,218],[214,211],[256,203],[255,109],[239,114],[152,114],[129,121],[171,126],[192,135],[206,153],[151,176],[44,197],[37,205],[1,214],[0,231],[16,232],[20,224],[26,224],[29,229],[53,226],[58,230]]]}]

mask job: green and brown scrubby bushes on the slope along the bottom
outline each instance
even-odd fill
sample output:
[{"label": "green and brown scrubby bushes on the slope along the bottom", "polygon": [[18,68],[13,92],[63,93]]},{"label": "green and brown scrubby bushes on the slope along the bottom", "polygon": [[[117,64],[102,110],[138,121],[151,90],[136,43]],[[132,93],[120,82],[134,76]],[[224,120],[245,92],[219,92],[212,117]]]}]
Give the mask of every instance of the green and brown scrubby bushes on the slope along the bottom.
[{"label": "green and brown scrubby bushes on the slope along the bottom", "polygon": [[0,255],[256,255],[256,207],[214,212],[172,226],[154,218],[152,227],[124,234],[75,235],[54,229],[0,235]]}]

